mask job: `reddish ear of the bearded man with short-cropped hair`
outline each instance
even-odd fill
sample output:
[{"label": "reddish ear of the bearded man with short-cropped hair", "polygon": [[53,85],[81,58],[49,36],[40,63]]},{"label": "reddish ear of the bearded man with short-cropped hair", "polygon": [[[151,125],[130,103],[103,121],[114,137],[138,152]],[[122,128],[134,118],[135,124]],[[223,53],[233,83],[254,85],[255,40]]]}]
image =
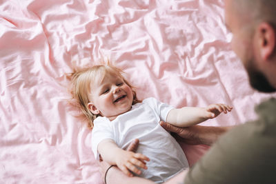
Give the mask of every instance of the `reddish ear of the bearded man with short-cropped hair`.
[{"label": "reddish ear of the bearded man with short-cropped hair", "polygon": [[259,49],[263,61],[275,51],[275,29],[269,23],[260,23],[257,32],[259,34]]}]

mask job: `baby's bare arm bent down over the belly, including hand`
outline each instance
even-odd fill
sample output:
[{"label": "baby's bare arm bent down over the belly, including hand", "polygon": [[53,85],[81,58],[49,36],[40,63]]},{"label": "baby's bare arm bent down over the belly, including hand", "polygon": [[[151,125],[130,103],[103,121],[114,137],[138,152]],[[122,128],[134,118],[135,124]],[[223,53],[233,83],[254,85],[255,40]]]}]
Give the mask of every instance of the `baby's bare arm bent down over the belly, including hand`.
[{"label": "baby's bare arm bent down over the belly, including hand", "polygon": [[117,165],[117,167],[128,176],[132,176],[130,171],[135,174],[141,174],[141,171],[135,166],[146,170],[145,161],[150,161],[144,154],[122,150],[112,139],[101,141],[98,145],[98,152],[101,154],[103,161],[106,161],[110,165]]}]

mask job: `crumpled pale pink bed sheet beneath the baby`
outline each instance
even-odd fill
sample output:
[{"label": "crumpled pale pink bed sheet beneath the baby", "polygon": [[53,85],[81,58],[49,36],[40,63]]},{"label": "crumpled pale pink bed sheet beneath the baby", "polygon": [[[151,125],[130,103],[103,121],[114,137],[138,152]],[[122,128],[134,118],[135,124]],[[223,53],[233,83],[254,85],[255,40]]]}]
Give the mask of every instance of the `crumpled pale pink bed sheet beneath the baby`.
[{"label": "crumpled pale pink bed sheet beneath the baby", "polygon": [[[250,88],[230,37],[222,0],[0,0],[0,183],[103,183],[65,76],[101,57],[139,99],[233,105],[202,125],[255,119],[271,95]],[[191,164],[206,150],[182,147]]]}]

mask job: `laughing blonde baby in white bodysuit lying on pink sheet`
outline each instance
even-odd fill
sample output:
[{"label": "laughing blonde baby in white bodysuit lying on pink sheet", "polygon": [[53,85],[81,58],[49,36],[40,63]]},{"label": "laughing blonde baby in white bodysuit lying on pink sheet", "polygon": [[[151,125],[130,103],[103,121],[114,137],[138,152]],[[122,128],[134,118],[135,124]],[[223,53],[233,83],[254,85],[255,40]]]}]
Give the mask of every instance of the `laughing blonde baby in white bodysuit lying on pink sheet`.
[{"label": "laughing blonde baby in white bodysuit lying on pink sheet", "polygon": [[[188,127],[232,109],[213,104],[207,108],[172,108],[154,98],[139,101],[122,71],[110,64],[95,65],[72,75],[72,94],[92,127],[92,151],[122,172],[156,183],[167,181],[188,167],[186,156],[159,121]],[[125,151],[139,139],[137,153]],[[147,163],[146,163],[147,161]]]}]

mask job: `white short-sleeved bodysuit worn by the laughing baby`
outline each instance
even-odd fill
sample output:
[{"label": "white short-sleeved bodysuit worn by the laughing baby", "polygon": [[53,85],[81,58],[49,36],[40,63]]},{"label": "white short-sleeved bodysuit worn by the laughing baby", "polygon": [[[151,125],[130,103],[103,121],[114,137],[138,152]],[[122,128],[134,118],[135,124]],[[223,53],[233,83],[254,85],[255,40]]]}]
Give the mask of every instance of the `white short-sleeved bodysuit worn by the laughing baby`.
[{"label": "white short-sleeved bodysuit worn by the laughing baby", "polygon": [[97,117],[92,130],[92,151],[99,159],[97,146],[103,139],[112,139],[122,149],[126,149],[133,139],[139,139],[137,152],[148,156],[148,170],[141,169],[139,175],[156,183],[167,181],[188,167],[186,156],[175,139],[159,125],[166,121],[173,108],[154,98],[132,105],[130,111],[120,114],[113,121]]}]

